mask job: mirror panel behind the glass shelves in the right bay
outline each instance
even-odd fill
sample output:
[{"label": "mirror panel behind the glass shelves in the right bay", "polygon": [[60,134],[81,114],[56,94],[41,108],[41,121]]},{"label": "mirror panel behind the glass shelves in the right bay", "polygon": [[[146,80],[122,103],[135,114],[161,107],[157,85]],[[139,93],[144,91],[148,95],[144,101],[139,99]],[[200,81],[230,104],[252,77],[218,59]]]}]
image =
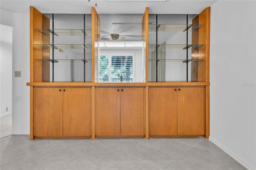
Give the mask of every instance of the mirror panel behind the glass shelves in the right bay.
[{"label": "mirror panel behind the glass shelves in the right bay", "polygon": [[[191,64],[196,71],[200,48],[192,24],[195,14],[149,15],[149,82],[191,81]],[[192,57],[192,55],[194,57]],[[194,80],[193,80],[194,81]]]}]

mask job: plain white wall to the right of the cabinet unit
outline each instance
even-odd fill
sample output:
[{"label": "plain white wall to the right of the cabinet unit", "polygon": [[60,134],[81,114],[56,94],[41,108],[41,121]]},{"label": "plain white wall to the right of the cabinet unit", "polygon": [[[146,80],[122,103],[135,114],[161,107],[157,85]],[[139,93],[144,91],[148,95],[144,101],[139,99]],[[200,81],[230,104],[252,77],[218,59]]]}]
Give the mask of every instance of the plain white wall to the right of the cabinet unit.
[{"label": "plain white wall to the right of the cabinet unit", "polygon": [[256,2],[211,6],[210,141],[256,168]]}]

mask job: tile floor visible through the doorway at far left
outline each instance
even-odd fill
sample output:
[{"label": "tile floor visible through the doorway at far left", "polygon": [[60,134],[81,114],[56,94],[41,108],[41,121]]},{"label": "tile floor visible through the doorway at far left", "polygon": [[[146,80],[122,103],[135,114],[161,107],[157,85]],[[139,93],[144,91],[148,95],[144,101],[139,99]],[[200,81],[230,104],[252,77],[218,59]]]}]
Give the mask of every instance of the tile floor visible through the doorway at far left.
[{"label": "tile floor visible through the doorway at far left", "polygon": [[12,115],[7,115],[0,118],[0,137],[6,137],[12,135]]}]

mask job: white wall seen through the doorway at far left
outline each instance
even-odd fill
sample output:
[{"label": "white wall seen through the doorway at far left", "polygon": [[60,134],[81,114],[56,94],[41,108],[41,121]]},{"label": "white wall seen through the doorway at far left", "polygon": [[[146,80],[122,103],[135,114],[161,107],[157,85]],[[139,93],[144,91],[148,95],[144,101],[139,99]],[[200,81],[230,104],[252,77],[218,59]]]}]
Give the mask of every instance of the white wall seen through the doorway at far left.
[{"label": "white wall seen through the doorway at far left", "polygon": [[12,27],[1,24],[0,30],[0,117],[3,117],[12,114]]}]

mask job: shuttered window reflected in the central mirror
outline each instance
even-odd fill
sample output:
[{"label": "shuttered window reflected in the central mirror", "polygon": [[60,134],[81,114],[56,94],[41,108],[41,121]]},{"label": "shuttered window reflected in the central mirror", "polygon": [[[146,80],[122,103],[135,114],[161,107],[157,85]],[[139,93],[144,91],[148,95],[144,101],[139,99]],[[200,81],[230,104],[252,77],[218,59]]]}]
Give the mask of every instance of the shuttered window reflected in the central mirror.
[{"label": "shuttered window reflected in the central mirror", "polygon": [[99,56],[99,82],[120,82],[121,76],[123,82],[133,81],[133,54],[118,53]]}]

